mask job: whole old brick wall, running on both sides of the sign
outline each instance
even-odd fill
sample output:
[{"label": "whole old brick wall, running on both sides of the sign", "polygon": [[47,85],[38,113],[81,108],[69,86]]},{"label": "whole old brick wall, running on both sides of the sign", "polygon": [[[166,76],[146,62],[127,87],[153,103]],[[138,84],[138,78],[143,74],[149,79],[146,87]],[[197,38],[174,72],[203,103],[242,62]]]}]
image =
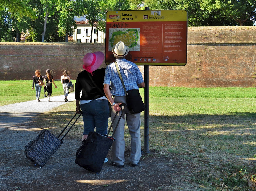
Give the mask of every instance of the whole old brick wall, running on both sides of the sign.
[{"label": "whole old brick wall, running on both sides of the sign", "polygon": [[[32,79],[35,69],[75,79],[87,52],[104,44],[0,43],[0,79]],[[105,67],[105,65],[102,65]],[[144,74],[144,66],[139,66]],[[150,86],[256,86],[256,27],[188,27],[186,66],[149,66]]]}]

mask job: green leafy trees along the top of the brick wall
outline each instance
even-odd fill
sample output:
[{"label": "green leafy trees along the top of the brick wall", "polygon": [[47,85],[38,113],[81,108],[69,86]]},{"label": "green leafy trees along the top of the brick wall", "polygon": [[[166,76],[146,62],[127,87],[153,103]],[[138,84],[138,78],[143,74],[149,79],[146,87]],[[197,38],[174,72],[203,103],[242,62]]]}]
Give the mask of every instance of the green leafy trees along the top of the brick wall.
[{"label": "green leafy trees along the top of the brick wall", "polygon": [[75,16],[104,31],[107,11],[144,7],[186,10],[188,26],[256,25],[255,0],[0,0],[0,41],[20,42],[28,32],[28,42],[68,42]]}]

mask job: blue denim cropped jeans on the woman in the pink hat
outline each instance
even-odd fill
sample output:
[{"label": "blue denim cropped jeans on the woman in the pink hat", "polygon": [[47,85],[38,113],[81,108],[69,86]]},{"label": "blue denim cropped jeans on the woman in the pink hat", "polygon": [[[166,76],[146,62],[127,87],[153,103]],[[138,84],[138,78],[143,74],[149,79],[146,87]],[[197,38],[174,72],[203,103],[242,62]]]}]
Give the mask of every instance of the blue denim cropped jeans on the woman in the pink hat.
[{"label": "blue denim cropped jeans on the woman in the pink hat", "polygon": [[88,135],[90,131],[94,131],[102,135],[108,132],[108,117],[109,107],[108,100],[92,100],[89,103],[80,105],[83,120],[84,120],[84,133]]}]

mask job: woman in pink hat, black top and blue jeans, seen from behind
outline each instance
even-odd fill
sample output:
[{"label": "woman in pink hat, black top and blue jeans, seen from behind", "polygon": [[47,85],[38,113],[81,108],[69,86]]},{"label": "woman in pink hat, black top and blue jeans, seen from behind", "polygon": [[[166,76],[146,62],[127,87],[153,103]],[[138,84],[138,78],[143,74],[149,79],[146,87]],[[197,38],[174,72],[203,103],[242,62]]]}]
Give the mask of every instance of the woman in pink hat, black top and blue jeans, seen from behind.
[{"label": "woman in pink hat, black top and blue jeans, seen from behind", "polygon": [[[100,68],[103,52],[87,53],[83,58],[84,71],[80,72],[75,84],[76,113],[82,111],[84,132],[82,140],[90,131],[107,134],[109,106],[103,90],[105,68]],[[80,97],[80,92],[82,96]],[[107,162],[108,159],[105,159]]]}]

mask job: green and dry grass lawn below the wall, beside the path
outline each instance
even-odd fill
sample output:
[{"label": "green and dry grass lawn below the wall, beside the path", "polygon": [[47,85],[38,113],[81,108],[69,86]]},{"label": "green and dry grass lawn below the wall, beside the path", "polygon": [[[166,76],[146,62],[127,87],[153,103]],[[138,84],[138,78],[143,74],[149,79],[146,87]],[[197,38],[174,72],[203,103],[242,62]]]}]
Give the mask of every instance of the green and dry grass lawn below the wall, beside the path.
[{"label": "green and dry grass lawn below the wall, beside the path", "polygon": [[[9,101],[12,94],[16,98],[22,97],[23,91],[26,95],[31,94],[32,82],[22,83],[23,86],[28,84],[28,89],[23,88],[15,93],[13,89],[21,86],[20,81],[12,82],[9,91],[13,92],[8,92],[5,104],[13,102]],[[59,84],[57,86],[62,90]],[[1,102],[3,89],[0,81]],[[142,96],[143,91],[140,88]],[[57,95],[57,92],[53,91],[53,95]],[[33,96],[34,92],[31,99],[34,99]],[[148,155],[175,155],[186,159],[184,169],[189,166],[194,170],[184,170],[183,176],[186,176],[190,184],[199,185],[202,190],[255,190],[255,88],[150,87],[149,97],[149,150],[152,153]],[[75,102],[66,103],[65,107],[60,106],[38,116],[36,124],[58,134],[75,110]],[[141,122],[143,144],[144,112],[141,113]],[[83,121],[79,119],[67,136],[81,137],[82,132]],[[129,146],[127,127],[125,139]],[[161,189],[171,190],[168,186]],[[185,187],[181,189],[186,190]]]}]

